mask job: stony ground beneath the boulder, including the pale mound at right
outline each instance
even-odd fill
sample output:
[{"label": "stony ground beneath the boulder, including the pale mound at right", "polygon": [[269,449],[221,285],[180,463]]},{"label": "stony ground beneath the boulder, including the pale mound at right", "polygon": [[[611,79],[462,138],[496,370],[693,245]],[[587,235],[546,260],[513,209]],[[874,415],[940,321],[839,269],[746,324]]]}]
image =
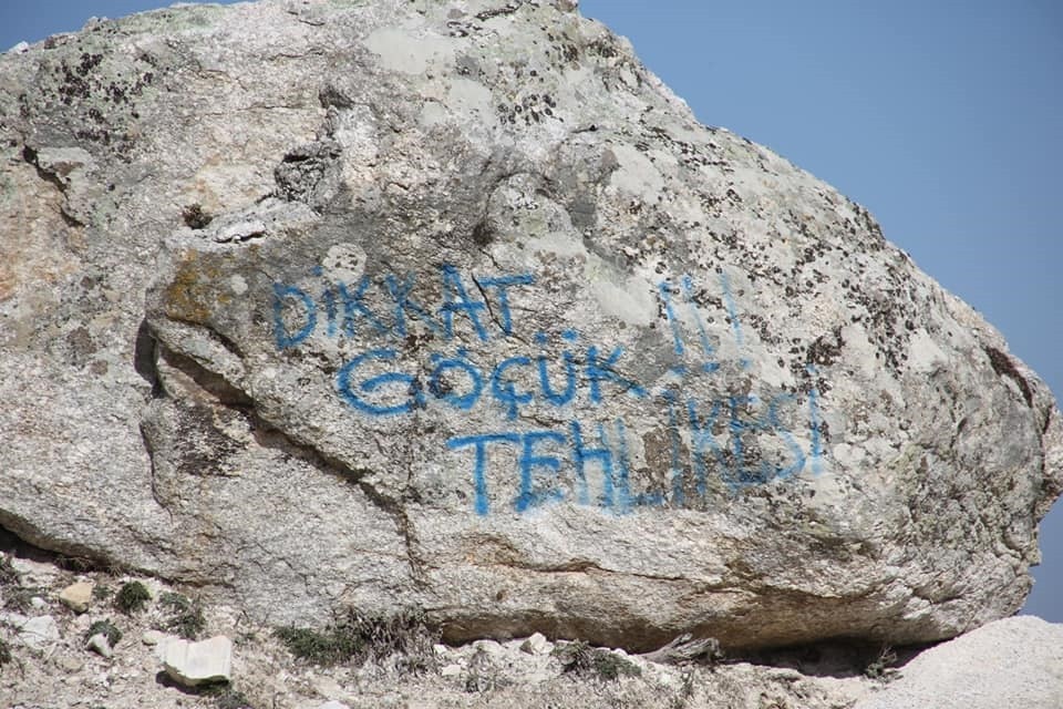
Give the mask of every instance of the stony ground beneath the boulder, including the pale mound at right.
[{"label": "stony ground beneath the boulder, including the pale mound at right", "polygon": [[[1031,616],[931,648],[631,655],[538,634],[452,647],[416,616],[269,627],[188,588],[0,543],[0,709],[1063,707],[1063,626]],[[189,661],[179,636],[225,657]],[[227,679],[194,684],[215,671]]]}]

